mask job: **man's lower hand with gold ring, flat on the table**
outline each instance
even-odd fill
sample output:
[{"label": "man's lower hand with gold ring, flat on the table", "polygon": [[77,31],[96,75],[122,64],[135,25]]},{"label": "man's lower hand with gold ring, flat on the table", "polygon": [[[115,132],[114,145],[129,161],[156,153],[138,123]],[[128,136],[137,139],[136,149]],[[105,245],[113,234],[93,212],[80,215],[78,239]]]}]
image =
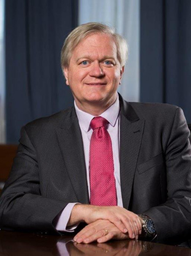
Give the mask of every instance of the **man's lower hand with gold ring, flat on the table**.
[{"label": "man's lower hand with gold ring, flat on the table", "polygon": [[93,241],[107,242],[110,239],[128,239],[128,234],[121,232],[112,222],[99,219],[83,228],[75,237],[74,241],[90,243]]}]

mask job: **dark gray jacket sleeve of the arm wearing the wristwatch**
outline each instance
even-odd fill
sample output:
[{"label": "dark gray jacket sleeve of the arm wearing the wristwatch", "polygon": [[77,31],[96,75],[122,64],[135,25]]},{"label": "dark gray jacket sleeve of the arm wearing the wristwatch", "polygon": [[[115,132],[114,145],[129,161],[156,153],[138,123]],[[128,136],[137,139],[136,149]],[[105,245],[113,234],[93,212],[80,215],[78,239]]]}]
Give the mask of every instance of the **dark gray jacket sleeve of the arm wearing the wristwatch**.
[{"label": "dark gray jacket sleeve of the arm wearing the wristwatch", "polygon": [[177,108],[165,152],[167,201],[144,212],[155,223],[158,242],[191,237],[191,144],[183,111]]}]

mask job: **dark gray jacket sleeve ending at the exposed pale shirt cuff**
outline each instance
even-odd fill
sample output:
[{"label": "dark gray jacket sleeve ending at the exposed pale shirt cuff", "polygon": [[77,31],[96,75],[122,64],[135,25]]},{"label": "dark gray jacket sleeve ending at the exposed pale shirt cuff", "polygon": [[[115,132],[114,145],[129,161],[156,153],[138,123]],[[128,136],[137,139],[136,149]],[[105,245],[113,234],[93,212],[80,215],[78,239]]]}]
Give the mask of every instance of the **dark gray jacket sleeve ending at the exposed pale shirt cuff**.
[{"label": "dark gray jacket sleeve ending at the exposed pale shirt cuff", "polygon": [[67,203],[41,196],[38,169],[36,150],[23,127],[13,167],[0,198],[1,229],[57,232],[53,219]]}]

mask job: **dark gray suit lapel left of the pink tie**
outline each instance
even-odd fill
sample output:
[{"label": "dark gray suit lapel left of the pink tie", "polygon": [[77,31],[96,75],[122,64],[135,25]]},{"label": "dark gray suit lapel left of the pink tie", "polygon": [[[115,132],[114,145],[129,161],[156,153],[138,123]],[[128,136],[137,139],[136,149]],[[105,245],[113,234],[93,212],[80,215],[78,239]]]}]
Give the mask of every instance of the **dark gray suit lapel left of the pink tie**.
[{"label": "dark gray suit lapel left of the pink tie", "polygon": [[57,138],[76,198],[89,204],[82,134],[74,107],[57,130]]}]

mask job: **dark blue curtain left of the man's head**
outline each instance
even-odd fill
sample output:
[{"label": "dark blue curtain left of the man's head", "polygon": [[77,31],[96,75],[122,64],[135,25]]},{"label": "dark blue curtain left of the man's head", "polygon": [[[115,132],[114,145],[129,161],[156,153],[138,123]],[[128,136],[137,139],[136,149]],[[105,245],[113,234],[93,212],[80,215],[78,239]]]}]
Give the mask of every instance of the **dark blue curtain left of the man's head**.
[{"label": "dark blue curtain left of the man's head", "polygon": [[73,103],[59,56],[78,0],[6,0],[5,8],[6,133],[18,143],[21,126]]}]

